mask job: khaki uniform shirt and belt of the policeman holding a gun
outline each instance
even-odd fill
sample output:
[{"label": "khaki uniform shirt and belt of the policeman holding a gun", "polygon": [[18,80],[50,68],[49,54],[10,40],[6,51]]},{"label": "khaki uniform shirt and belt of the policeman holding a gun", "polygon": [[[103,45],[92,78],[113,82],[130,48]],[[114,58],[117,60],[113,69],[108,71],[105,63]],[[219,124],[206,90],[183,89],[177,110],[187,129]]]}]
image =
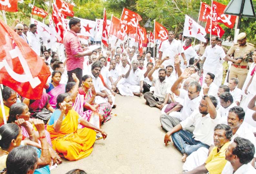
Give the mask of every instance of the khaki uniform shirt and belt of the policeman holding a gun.
[{"label": "khaki uniform shirt and belt of the policeman holding a gun", "polygon": [[[239,43],[235,43],[228,51],[227,54],[232,55],[234,54],[234,58],[242,57],[245,54],[248,54],[250,51],[254,51],[254,46],[251,43],[246,43],[245,46],[239,46]],[[244,62],[244,59],[242,59],[242,62],[240,64],[235,65],[247,65],[248,62]]]}]

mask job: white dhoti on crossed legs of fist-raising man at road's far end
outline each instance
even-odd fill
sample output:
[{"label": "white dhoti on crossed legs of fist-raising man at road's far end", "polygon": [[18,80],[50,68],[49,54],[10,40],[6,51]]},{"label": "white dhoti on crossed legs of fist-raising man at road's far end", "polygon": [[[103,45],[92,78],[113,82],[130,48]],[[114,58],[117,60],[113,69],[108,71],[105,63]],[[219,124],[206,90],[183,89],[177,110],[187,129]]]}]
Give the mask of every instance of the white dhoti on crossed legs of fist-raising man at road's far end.
[{"label": "white dhoti on crossed legs of fist-raising man at road's far end", "polygon": [[139,85],[132,85],[127,82],[117,85],[117,88],[118,88],[120,94],[124,95],[124,96],[133,96],[133,92],[140,93]]}]

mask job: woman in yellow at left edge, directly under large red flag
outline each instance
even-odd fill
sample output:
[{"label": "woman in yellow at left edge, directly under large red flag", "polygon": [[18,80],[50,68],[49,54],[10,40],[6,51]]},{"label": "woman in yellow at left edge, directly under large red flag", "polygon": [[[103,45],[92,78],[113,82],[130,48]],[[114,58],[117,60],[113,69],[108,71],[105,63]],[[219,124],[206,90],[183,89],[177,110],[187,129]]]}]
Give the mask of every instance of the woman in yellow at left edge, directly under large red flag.
[{"label": "woman in yellow at left edge, directly under large red flag", "polygon": [[[4,101],[5,117],[7,120],[9,116],[10,107],[17,101],[17,92],[15,92],[14,90],[6,86],[2,90],[2,96]],[[0,107],[0,126],[2,126],[3,124],[4,124],[4,118],[3,118],[2,108]]]}]

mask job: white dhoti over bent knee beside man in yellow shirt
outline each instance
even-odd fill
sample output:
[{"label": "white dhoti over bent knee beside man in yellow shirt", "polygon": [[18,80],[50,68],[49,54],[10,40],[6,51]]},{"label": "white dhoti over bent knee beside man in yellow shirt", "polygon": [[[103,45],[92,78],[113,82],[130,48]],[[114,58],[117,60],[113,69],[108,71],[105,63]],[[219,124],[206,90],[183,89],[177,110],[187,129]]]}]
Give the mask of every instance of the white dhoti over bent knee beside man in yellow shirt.
[{"label": "white dhoti over bent knee beside man in yellow shirt", "polygon": [[208,157],[209,149],[205,147],[200,147],[197,151],[192,152],[186,159],[186,162],[183,164],[182,169],[191,171],[198,166],[201,166],[205,163]]}]

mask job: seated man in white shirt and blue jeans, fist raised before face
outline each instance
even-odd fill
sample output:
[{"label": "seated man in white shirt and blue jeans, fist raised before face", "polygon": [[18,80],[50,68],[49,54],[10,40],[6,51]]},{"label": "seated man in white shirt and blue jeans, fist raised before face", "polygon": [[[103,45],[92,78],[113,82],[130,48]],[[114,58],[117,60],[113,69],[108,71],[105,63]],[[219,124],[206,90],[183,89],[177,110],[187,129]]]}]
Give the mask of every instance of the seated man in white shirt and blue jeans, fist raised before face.
[{"label": "seated man in white shirt and blue jeans, fist raised before face", "polygon": [[[204,97],[199,109],[196,109],[189,117],[173,127],[164,136],[165,145],[172,141],[178,150],[183,154],[182,161],[186,161],[188,155],[200,147],[209,148],[213,144],[213,129],[221,122],[221,116],[216,111],[217,100],[213,96],[208,96],[209,87],[204,87]],[[189,126],[195,126],[193,134],[182,130]]]}]

